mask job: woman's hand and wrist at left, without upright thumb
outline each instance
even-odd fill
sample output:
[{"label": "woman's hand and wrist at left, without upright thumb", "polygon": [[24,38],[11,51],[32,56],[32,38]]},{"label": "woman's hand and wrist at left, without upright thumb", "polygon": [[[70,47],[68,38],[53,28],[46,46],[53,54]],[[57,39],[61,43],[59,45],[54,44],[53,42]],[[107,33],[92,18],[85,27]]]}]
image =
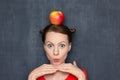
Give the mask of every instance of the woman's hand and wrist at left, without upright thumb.
[{"label": "woman's hand and wrist at left, without upright thumb", "polygon": [[57,69],[50,64],[43,64],[42,66],[39,66],[38,68],[34,69],[28,76],[28,80],[36,80],[38,77],[46,75],[46,74],[52,74],[55,73]]}]

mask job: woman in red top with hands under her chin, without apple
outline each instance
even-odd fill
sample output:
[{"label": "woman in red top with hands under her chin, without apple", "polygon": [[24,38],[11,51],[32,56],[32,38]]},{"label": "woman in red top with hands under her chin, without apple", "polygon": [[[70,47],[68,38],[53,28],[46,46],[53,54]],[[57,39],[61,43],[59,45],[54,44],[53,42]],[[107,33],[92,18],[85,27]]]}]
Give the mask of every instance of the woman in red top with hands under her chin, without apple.
[{"label": "woman in red top with hands under her chin, without apple", "polygon": [[87,80],[85,70],[77,63],[65,63],[71,50],[72,34],[75,29],[65,25],[48,25],[42,31],[42,41],[50,64],[43,64],[34,69],[28,80]]}]

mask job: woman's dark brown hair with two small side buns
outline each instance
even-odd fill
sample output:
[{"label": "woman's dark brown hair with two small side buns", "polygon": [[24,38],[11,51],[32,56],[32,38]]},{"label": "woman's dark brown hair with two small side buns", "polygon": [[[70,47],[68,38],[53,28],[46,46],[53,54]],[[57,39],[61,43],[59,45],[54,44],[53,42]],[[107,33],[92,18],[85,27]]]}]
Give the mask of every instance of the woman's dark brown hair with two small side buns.
[{"label": "woman's dark brown hair with two small side buns", "polygon": [[68,41],[70,43],[70,42],[72,42],[72,34],[76,31],[76,29],[75,28],[69,29],[65,25],[53,25],[53,24],[47,25],[43,30],[40,30],[40,34],[42,35],[43,43],[45,43],[45,38],[46,38],[47,32],[51,32],[51,31],[67,35]]}]

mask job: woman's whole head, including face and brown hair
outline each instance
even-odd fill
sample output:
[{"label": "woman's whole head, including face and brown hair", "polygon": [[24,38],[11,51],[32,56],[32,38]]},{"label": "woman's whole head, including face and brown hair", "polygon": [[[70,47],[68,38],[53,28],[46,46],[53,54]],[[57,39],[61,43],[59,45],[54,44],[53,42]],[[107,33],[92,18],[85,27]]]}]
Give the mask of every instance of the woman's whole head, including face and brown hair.
[{"label": "woman's whole head, including face and brown hair", "polygon": [[64,25],[48,25],[42,31],[44,49],[51,64],[65,63],[71,49],[72,33],[74,32],[71,30]]}]

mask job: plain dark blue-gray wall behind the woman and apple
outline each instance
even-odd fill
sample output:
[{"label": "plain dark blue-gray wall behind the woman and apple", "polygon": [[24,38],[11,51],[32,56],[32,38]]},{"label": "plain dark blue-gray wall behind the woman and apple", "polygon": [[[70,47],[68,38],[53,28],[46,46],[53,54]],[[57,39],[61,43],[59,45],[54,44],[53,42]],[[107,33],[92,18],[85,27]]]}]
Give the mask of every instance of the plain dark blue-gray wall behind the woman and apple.
[{"label": "plain dark blue-gray wall behind the woman and apple", "polygon": [[0,0],[0,80],[27,80],[48,63],[38,31],[52,10],[77,29],[67,61],[76,60],[89,80],[120,80],[119,0]]}]

